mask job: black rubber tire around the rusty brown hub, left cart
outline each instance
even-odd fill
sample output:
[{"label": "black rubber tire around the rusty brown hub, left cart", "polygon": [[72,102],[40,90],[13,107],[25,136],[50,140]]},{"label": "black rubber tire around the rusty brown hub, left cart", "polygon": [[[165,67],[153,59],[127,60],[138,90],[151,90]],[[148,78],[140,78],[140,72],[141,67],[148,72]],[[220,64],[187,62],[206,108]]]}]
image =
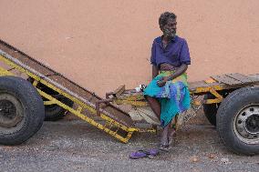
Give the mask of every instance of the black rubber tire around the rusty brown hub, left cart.
[{"label": "black rubber tire around the rusty brown hub, left cart", "polygon": [[16,129],[17,126],[13,127],[14,131],[8,134],[0,130],[0,144],[10,146],[21,144],[34,136],[42,126],[45,118],[43,100],[34,86],[16,76],[0,77],[0,96],[1,92],[16,96],[24,108],[25,121],[19,129]]}]

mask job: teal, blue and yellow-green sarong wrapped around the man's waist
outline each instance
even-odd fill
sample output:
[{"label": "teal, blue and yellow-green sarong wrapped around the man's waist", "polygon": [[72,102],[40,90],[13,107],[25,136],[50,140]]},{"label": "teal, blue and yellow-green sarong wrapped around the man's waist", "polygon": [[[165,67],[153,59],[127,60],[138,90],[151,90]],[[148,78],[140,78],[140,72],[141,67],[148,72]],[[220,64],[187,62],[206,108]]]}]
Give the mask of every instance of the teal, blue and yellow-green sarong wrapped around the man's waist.
[{"label": "teal, blue and yellow-green sarong wrapped around the man's waist", "polygon": [[150,85],[144,89],[144,96],[156,97],[161,103],[161,126],[167,126],[177,114],[190,108],[191,98],[186,73],[168,81],[165,86],[158,86],[157,81],[163,76],[171,76],[174,71],[161,71]]}]

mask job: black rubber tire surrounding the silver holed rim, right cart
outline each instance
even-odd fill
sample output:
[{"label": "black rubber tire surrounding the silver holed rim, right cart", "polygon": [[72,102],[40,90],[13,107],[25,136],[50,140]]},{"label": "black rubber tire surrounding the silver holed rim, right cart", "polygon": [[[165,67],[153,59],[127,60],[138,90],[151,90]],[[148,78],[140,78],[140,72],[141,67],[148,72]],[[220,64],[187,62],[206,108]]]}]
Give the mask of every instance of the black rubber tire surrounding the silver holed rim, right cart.
[{"label": "black rubber tire surrounding the silver holed rim, right cart", "polygon": [[259,104],[259,87],[243,87],[223,99],[217,113],[217,131],[223,144],[236,154],[259,154],[259,144],[246,144],[236,137],[233,121],[238,112],[249,104]]}]

